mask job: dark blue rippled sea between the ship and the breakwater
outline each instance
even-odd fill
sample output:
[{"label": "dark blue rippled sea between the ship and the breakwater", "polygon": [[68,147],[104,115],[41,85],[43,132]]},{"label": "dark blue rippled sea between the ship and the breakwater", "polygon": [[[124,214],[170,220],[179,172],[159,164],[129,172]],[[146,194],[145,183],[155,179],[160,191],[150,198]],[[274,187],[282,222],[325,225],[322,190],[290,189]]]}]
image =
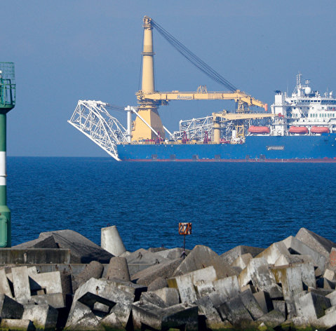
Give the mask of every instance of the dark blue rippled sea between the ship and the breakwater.
[{"label": "dark blue rippled sea between the ship and the breakwater", "polygon": [[126,163],[110,158],[8,158],[13,245],[72,229],[100,244],[116,225],[128,250],[181,246],[222,253],[267,247],[301,227],[336,241],[336,164]]}]

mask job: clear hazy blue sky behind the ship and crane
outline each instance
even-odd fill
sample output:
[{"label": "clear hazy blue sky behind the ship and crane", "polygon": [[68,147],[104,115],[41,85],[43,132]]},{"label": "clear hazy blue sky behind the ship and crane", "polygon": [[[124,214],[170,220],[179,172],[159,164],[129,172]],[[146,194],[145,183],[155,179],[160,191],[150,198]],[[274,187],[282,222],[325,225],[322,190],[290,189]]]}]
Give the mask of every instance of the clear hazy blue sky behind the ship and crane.
[{"label": "clear hazy blue sky behind the ship and crane", "polygon": [[[15,62],[17,104],[8,114],[9,156],[107,156],[67,120],[78,100],[135,105],[142,18],[152,17],[225,79],[271,104],[302,72],[334,89],[335,1],[1,1],[0,61]],[[156,90],[223,90],[154,30]],[[180,119],[231,102],[170,102]]]}]

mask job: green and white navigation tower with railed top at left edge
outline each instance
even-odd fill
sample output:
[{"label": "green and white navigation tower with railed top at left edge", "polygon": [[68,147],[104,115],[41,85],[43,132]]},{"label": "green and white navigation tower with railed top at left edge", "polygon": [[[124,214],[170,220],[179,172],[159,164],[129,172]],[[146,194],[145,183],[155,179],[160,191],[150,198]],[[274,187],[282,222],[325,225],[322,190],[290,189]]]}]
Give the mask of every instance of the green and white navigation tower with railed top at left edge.
[{"label": "green and white navigation tower with railed top at left edge", "polygon": [[0,62],[0,248],[11,247],[11,210],[6,191],[6,114],[15,106],[13,62]]}]

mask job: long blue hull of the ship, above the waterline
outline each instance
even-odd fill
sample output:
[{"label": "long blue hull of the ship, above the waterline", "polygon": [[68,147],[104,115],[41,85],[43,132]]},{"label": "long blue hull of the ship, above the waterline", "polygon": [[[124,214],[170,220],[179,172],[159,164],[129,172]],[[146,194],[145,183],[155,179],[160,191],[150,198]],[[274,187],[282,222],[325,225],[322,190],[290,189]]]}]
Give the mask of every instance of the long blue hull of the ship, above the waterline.
[{"label": "long blue hull of the ship, above the waterline", "polygon": [[243,144],[119,144],[123,161],[335,161],[336,134],[247,136]]}]

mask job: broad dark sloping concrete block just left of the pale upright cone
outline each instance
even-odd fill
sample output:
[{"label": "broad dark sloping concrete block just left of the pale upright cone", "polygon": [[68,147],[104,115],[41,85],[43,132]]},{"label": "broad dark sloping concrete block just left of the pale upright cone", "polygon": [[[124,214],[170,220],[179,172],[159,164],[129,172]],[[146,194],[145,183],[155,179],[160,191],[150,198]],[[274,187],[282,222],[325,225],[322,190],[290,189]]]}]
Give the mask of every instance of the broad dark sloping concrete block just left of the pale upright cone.
[{"label": "broad dark sloping concrete block just left of the pale upright cone", "polygon": [[69,263],[90,263],[98,261],[100,263],[109,263],[113,255],[81,234],[72,230],[59,230],[42,232],[39,238],[53,236],[55,243],[59,248],[70,250]]}]

